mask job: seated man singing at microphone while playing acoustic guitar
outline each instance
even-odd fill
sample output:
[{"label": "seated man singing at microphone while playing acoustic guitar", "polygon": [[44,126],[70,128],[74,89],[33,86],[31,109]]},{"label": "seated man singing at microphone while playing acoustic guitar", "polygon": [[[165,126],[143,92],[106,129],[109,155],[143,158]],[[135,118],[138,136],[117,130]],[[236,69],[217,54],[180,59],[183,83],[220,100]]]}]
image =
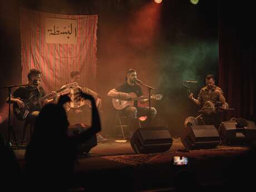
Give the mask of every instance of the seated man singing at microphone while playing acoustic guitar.
[{"label": "seated man singing at microphone while playing acoustic guitar", "polygon": [[[107,93],[107,96],[110,96],[115,99],[126,100],[129,101],[131,99],[131,94],[135,93],[137,97],[142,96],[141,87],[136,83],[137,73],[134,69],[130,69],[126,73],[125,82],[116,88],[112,89]],[[141,98],[139,100],[141,104],[149,102],[149,99]],[[136,131],[137,127],[134,127],[134,119],[140,116],[147,116],[149,114],[149,107],[138,107],[137,101],[134,101],[134,106],[127,106],[122,112],[129,119],[129,126],[131,126],[131,131]],[[154,107],[150,107],[151,120],[153,120],[156,116],[156,109]]]}]

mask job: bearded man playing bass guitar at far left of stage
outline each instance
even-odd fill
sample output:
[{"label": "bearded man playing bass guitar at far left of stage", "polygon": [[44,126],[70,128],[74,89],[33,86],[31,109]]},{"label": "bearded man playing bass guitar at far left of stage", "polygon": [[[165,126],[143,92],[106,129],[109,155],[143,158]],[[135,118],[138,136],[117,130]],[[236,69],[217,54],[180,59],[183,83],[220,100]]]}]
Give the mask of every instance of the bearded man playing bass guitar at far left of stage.
[{"label": "bearded man playing bass guitar at far left of stage", "polygon": [[[11,103],[17,104],[17,108],[14,109],[16,111],[16,114],[18,114],[24,106],[25,101],[29,101],[32,99],[40,99],[41,97],[45,96],[45,90],[41,86],[41,72],[36,69],[31,69],[28,73],[28,82],[27,86],[18,87],[11,95]],[[47,104],[48,102],[53,102],[53,100],[56,100],[57,93],[55,91],[52,91],[53,99],[46,99],[43,101],[42,105]],[[6,102],[8,102],[9,97],[6,99]],[[32,107],[30,109],[29,114],[27,114],[27,119],[29,121],[35,122],[36,117],[38,116],[40,110],[42,109],[42,105],[37,105]]]}]

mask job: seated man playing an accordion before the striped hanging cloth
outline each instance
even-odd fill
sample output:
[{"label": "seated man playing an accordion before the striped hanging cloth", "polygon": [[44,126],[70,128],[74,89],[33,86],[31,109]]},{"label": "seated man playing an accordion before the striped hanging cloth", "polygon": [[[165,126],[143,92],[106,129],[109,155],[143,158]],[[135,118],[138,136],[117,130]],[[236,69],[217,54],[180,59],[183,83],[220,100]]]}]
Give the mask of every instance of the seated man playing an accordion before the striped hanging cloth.
[{"label": "seated man playing an accordion before the striped hanging cloth", "polygon": [[[91,102],[88,100],[84,100],[83,98],[80,99],[79,97],[77,97],[77,95],[78,93],[80,93],[80,90],[82,90],[88,95],[91,95],[95,99],[97,109],[99,110],[100,115],[102,116],[101,99],[99,99],[98,93],[90,90],[87,87],[79,86],[80,72],[72,71],[70,73],[70,77],[71,77],[71,82],[76,82],[77,86],[73,86],[65,90],[65,93],[68,93],[71,99],[71,101],[68,102],[65,106],[67,111],[68,121],[70,122],[70,125],[82,123],[86,126],[90,126],[91,125]],[[97,140],[106,141],[106,139],[102,137],[99,133],[97,134]]]}]

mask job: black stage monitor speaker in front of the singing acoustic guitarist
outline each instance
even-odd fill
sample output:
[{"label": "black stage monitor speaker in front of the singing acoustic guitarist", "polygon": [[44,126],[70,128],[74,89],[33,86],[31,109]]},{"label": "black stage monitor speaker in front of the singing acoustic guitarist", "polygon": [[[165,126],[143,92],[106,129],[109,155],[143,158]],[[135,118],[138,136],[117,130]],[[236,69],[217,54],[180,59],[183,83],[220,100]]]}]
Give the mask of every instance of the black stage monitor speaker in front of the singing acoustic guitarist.
[{"label": "black stage monitor speaker in front of the singing acoustic guitarist", "polygon": [[150,154],[168,151],[173,139],[166,127],[141,127],[132,135],[130,143],[136,154]]}]

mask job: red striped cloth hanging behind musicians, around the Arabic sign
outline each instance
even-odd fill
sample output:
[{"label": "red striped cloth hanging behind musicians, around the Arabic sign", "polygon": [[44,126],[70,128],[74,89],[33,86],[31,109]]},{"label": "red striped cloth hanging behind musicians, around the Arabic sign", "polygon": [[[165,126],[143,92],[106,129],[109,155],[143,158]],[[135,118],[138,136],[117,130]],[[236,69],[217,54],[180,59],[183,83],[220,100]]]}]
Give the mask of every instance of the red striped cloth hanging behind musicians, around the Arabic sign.
[{"label": "red striped cloth hanging behind musicians, around the Arabic sign", "polygon": [[[70,82],[70,72],[80,71],[82,86],[95,89],[97,15],[65,15],[22,8],[21,58],[22,83],[31,68],[42,72],[42,86],[47,93]],[[76,19],[77,45],[45,42],[45,18]]]}]

